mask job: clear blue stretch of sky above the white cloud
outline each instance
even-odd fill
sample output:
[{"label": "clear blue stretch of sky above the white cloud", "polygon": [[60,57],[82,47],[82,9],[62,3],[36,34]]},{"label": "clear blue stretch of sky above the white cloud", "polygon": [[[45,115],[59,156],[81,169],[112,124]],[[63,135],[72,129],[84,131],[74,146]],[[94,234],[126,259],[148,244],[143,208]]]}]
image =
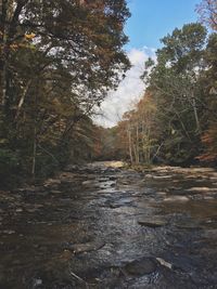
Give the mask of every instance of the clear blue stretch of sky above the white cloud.
[{"label": "clear blue stretch of sky above the white cloud", "polygon": [[130,48],[159,48],[159,39],[174,28],[196,22],[196,4],[200,0],[128,0],[131,18],[127,22],[126,34]]}]

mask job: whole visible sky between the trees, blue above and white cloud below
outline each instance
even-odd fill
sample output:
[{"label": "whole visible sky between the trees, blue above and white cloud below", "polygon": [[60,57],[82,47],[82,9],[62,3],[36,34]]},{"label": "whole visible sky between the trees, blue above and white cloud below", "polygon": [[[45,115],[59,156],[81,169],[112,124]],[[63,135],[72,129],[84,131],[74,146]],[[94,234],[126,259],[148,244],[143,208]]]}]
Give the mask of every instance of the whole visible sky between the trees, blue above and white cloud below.
[{"label": "whole visible sky between the trees, blue above and white cloud below", "polygon": [[183,24],[196,22],[195,6],[200,0],[128,0],[131,17],[125,34],[129,42],[125,51],[131,62],[131,69],[119,83],[117,91],[111,91],[102,103],[100,114],[94,121],[103,127],[114,127],[125,111],[143,95],[144,84],[140,80],[144,62],[155,58],[155,51],[161,48],[164,36],[171,34]]}]

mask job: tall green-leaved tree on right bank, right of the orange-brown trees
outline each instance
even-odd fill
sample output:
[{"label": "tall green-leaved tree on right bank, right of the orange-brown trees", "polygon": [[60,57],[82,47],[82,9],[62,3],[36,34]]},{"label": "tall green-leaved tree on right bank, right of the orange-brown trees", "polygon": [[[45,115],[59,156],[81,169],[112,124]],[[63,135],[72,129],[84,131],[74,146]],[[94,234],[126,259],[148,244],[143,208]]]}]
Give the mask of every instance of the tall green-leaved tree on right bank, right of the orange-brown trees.
[{"label": "tall green-leaved tree on right bank, right of the orange-brown trees", "polygon": [[205,40],[206,29],[201,24],[176,28],[162,39],[157,62],[151,64],[148,84],[161,119],[163,158],[171,162],[190,161],[201,149],[205,108],[199,79],[206,66]]}]

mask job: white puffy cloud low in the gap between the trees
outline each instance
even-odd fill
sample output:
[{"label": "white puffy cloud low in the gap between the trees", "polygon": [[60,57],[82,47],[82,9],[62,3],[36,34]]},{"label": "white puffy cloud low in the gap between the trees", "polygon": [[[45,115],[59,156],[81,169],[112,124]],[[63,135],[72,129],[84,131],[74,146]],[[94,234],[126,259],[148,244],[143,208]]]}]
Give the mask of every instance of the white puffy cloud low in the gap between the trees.
[{"label": "white puffy cloud low in the gap between the trees", "polygon": [[102,116],[94,118],[94,122],[103,127],[113,127],[122,118],[123,114],[133,106],[144,92],[144,83],[140,76],[144,69],[144,62],[154,56],[155,49],[131,49],[128,57],[132,65],[127,71],[126,78],[119,83],[117,91],[110,92],[101,105]]}]

